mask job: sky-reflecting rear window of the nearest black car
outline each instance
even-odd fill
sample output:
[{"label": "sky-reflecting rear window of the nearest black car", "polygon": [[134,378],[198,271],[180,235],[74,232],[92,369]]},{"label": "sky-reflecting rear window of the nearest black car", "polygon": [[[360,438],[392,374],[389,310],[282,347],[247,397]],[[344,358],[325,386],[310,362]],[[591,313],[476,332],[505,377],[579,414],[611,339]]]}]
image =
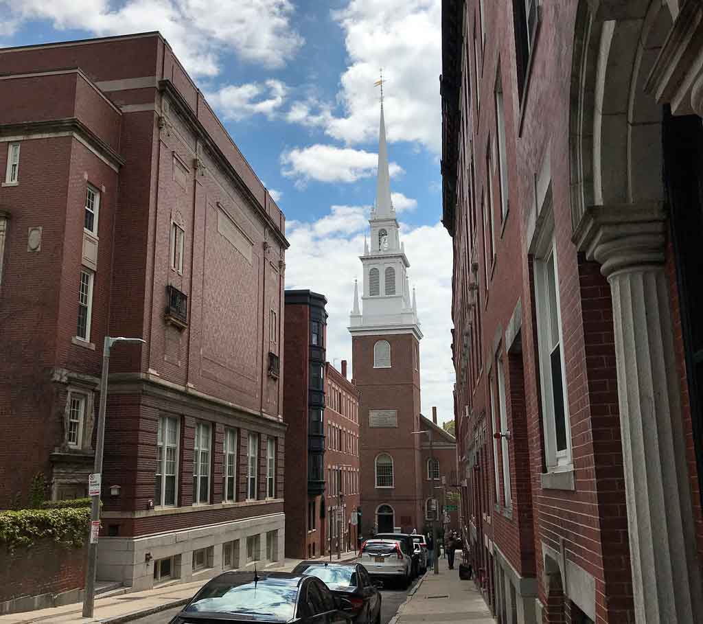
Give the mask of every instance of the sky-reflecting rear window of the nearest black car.
[{"label": "sky-reflecting rear window of the nearest black car", "polygon": [[188,605],[188,613],[236,613],[253,620],[288,622],[295,615],[295,585],[213,583]]}]

